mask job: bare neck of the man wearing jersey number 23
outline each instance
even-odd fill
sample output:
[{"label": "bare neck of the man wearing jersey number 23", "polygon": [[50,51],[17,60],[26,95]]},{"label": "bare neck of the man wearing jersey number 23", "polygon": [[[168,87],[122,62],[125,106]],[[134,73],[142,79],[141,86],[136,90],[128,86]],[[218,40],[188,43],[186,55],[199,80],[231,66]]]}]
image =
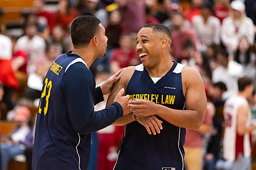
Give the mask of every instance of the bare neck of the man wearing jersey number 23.
[{"label": "bare neck of the man wearing jersey number 23", "polygon": [[80,56],[84,60],[84,62],[86,62],[86,65],[88,66],[88,68],[90,68],[90,66],[96,59],[94,57],[93,51],[90,50],[89,48],[80,48],[80,49],[75,48],[72,53]]}]

